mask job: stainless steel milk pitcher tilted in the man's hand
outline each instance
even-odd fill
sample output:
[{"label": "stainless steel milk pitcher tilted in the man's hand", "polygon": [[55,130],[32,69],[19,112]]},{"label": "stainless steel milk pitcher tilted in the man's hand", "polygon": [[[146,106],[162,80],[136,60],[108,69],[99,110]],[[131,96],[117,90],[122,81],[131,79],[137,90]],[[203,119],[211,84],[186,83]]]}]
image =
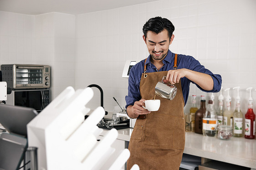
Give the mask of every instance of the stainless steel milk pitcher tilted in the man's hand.
[{"label": "stainless steel milk pitcher tilted in the man's hand", "polygon": [[169,100],[173,100],[176,93],[177,93],[177,87],[175,87],[172,84],[164,83],[164,76],[162,78],[162,81],[159,81],[155,86],[155,94],[159,97],[167,98]]}]

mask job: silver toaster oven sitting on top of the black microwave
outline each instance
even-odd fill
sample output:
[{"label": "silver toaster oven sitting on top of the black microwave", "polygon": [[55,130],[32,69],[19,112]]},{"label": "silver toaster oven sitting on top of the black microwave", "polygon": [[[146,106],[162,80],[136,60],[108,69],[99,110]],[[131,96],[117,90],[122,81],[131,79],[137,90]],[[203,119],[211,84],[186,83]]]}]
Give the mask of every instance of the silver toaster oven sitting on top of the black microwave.
[{"label": "silver toaster oven sitting on top of the black microwave", "polygon": [[2,79],[12,89],[50,88],[50,66],[2,64]]}]

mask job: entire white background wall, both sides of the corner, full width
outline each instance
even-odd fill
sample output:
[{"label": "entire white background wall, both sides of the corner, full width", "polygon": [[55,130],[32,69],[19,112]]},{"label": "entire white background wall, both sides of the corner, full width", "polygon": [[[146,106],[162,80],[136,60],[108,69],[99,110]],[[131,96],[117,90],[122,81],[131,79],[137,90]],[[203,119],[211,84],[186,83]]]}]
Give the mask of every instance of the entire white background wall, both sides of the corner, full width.
[{"label": "entire white background wall, both sides of the corner, full width", "polygon": [[[112,112],[125,106],[128,79],[122,78],[126,60],[142,60],[148,50],[142,39],[143,24],[151,17],[170,19],[174,41],[170,50],[192,55],[213,73],[222,76],[222,86],[241,87],[241,108],[246,112],[249,92],[256,88],[255,0],[159,0],[146,4],[81,15],[49,13],[22,15],[0,11],[0,64],[42,63],[54,69],[54,97],[71,85],[84,88],[98,84],[104,92],[104,107]],[[67,36],[68,35],[68,36]],[[94,88],[93,88],[94,90]],[[100,93],[88,103],[100,105]],[[226,97],[226,92],[223,90]],[[210,94],[191,84],[192,94],[206,99]],[[215,103],[219,93],[215,93]],[[236,91],[230,90],[234,110]],[[256,100],[256,92],[252,97]]]}]

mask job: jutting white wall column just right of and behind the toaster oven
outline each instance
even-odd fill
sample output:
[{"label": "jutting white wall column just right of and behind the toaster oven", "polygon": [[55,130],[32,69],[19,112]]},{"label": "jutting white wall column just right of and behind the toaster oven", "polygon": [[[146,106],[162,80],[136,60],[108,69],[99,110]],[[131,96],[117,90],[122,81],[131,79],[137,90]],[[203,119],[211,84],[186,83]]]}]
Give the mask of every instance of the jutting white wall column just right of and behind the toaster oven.
[{"label": "jutting white wall column just right of and behind the toaster oven", "polygon": [[36,18],[36,61],[51,66],[51,94],[75,86],[75,15],[48,13]]}]

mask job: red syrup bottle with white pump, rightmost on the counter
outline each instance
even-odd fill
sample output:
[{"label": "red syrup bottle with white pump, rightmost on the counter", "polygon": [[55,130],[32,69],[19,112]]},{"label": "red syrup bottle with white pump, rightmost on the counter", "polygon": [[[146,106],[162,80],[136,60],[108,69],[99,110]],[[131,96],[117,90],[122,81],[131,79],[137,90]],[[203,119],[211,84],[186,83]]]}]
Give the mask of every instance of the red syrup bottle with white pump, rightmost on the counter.
[{"label": "red syrup bottle with white pump, rightmost on the counter", "polygon": [[253,100],[251,98],[251,89],[252,87],[247,88],[250,90],[250,97],[248,100],[248,110],[245,115],[245,138],[254,139],[255,138],[255,114],[253,112]]}]

